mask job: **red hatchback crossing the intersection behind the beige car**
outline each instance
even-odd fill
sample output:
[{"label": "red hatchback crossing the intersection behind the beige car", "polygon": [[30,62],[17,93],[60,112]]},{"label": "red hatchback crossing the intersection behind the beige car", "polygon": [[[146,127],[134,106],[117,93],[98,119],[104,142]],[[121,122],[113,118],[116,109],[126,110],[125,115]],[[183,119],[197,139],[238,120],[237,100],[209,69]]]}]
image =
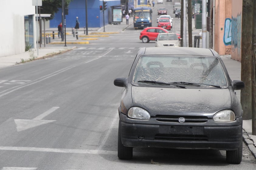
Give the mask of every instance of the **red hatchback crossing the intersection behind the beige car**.
[{"label": "red hatchback crossing the intersection behind the beige car", "polygon": [[144,43],[155,41],[160,32],[168,32],[168,30],[161,27],[147,27],[140,32],[140,40]]}]

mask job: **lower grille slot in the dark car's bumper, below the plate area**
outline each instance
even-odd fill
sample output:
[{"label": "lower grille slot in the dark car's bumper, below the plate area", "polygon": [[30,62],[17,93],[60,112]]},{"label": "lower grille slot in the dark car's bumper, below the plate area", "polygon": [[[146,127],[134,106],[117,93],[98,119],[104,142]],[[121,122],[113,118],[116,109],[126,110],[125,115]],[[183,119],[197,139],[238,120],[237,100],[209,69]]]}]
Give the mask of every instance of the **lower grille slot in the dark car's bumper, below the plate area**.
[{"label": "lower grille slot in the dark car's bumper, below the plate area", "polygon": [[170,135],[170,134],[157,134],[157,140],[179,140],[179,141],[207,141],[206,135]]}]

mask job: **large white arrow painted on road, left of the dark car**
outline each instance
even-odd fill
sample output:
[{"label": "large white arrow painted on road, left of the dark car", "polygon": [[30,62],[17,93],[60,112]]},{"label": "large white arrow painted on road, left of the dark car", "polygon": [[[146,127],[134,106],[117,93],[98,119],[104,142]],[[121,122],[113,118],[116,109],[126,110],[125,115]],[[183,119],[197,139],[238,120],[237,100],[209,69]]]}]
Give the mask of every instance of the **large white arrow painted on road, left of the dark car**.
[{"label": "large white arrow painted on road, left of the dark car", "polygon": [[56,121],[56,120],[42,120],[42,119],[47,115],[50,115],[52,112],[54,112],[58,108],[59,107],[52,107],[46,112],[42,113],[41,115],[33,119],[14,119],[14,122],[16,123],[17,132]]}]

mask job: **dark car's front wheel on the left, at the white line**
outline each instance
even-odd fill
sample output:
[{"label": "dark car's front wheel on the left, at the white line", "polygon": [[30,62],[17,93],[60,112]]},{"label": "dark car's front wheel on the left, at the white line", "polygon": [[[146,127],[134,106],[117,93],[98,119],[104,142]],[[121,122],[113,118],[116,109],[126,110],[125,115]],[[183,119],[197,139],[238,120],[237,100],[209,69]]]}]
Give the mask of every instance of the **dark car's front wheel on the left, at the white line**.
[{"label": "dark car's front wheel on the left, at the white line", "polygon": [[126,147],[122,144],[121,135],[120,135],[120,121],[118,128],[118,146],[117,146],[117,155],[119,159],[131,159],[133,158],[133,148]]}]

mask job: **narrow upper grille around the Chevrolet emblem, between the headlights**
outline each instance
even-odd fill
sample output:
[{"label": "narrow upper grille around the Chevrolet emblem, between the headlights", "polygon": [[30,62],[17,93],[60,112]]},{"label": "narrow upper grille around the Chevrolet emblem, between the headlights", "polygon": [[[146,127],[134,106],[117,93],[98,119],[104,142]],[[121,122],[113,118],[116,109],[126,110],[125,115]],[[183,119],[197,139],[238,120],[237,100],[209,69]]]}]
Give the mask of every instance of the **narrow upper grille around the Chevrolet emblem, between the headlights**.
[{"label": "narrow upper grille around the Chevrolet emblem, between the headlights", "polygon": [[185,118],[185,123],[205,123],[208,121],[207,116],[181,116],[181,115],[156,115],[159,122],[178,122],[180,117]]}]

